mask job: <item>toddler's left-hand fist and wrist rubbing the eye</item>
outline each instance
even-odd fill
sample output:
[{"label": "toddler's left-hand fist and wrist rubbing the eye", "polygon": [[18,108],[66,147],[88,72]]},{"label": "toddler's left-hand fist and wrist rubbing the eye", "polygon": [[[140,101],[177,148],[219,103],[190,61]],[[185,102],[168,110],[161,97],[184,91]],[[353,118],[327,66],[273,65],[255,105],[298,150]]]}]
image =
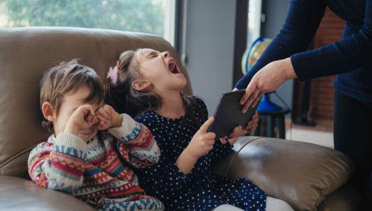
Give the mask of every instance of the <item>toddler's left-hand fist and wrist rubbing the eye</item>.
[{"label": "toddler's left-hand fist and wrist rubbing the eye", "polygon": [[95,109],[89,104],[80,105],[67,121],[64,132],[77,136],[79,131],[88,129],[94,124],[97,124]]}]

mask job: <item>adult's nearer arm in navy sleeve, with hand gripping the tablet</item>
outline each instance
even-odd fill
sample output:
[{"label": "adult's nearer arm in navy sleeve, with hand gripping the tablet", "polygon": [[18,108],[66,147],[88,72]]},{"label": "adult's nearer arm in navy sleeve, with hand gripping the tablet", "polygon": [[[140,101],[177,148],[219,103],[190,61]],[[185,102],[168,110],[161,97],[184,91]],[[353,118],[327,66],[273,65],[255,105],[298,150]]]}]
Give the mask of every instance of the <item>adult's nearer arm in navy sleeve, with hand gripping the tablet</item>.
[{"label": "adult's nearer arm in navy sleeve, with hand gripping the tablet", "polygon": [[242,111],[245,112],[251,103],[254,106],[264,92],[275,90],[287,79],[299,77],[300,80],[306,80],[340,74],[370,64],[369,59],[372,56],[371,2],[372,0],[366,1],[364,24],[359,33],[320,49],[273,61],[260,69],[252,77],[241,99],[241,103],[245,103]]}]

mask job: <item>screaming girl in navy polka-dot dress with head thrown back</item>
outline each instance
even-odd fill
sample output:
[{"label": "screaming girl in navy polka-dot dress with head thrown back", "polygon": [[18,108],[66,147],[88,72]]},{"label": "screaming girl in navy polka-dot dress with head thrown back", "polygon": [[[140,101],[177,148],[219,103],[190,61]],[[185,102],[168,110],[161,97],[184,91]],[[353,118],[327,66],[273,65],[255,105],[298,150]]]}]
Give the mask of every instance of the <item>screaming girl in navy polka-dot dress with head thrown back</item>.
[{"label": "screaming girl in navy polka-dot dress with head thrown back", "polygon": [[[137,171],[146,192],[170,210],[293,210],[246,178],[211,172],[240,135],[256,128],[257,114],[244,130],[236,127],[227,143],[215,142],[215,134],[207,132],[214,119],[208,119],[202,99],[182,94],[186,83],[169,52],[152,49],[122,53],[105,80],[107,103],[146,125],[158,142],[158,164]],[[276,203],[270,207],[269,201]]]}]

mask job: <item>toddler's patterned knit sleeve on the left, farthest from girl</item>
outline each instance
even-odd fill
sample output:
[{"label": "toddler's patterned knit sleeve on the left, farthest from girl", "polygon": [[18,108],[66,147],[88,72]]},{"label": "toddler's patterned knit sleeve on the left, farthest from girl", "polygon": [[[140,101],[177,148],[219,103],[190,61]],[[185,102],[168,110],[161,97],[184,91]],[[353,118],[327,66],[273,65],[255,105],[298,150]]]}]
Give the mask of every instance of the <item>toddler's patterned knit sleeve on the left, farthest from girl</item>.
[{"label": "toddler's patterned knit sleeve on the left, farthest from girl", "polygon": [[83,181],[87,148],[83,140],[69,133],[58,134],[54,144],[39,144],[28,159],[31,179],[63,192],[78,189]]}]

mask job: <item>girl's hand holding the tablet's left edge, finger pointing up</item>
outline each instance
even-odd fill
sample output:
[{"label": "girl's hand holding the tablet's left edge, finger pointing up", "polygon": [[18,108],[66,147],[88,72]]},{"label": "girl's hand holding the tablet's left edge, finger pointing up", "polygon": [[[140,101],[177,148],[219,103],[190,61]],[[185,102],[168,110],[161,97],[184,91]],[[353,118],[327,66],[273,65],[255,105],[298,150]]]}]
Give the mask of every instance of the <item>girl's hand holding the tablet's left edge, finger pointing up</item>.
[{"label": "girl's hand holding the tablet's left edge, finger pointing up", "polygon": [[188,147],[189,153],[193,155],[194,158],[198,159],[203,155],[207,154],[215,143],[216,134],[212,132],[207,132],[209,126],[213,123],[214,118],[209,118],[199,129],[199,131],[191,139]]}]

